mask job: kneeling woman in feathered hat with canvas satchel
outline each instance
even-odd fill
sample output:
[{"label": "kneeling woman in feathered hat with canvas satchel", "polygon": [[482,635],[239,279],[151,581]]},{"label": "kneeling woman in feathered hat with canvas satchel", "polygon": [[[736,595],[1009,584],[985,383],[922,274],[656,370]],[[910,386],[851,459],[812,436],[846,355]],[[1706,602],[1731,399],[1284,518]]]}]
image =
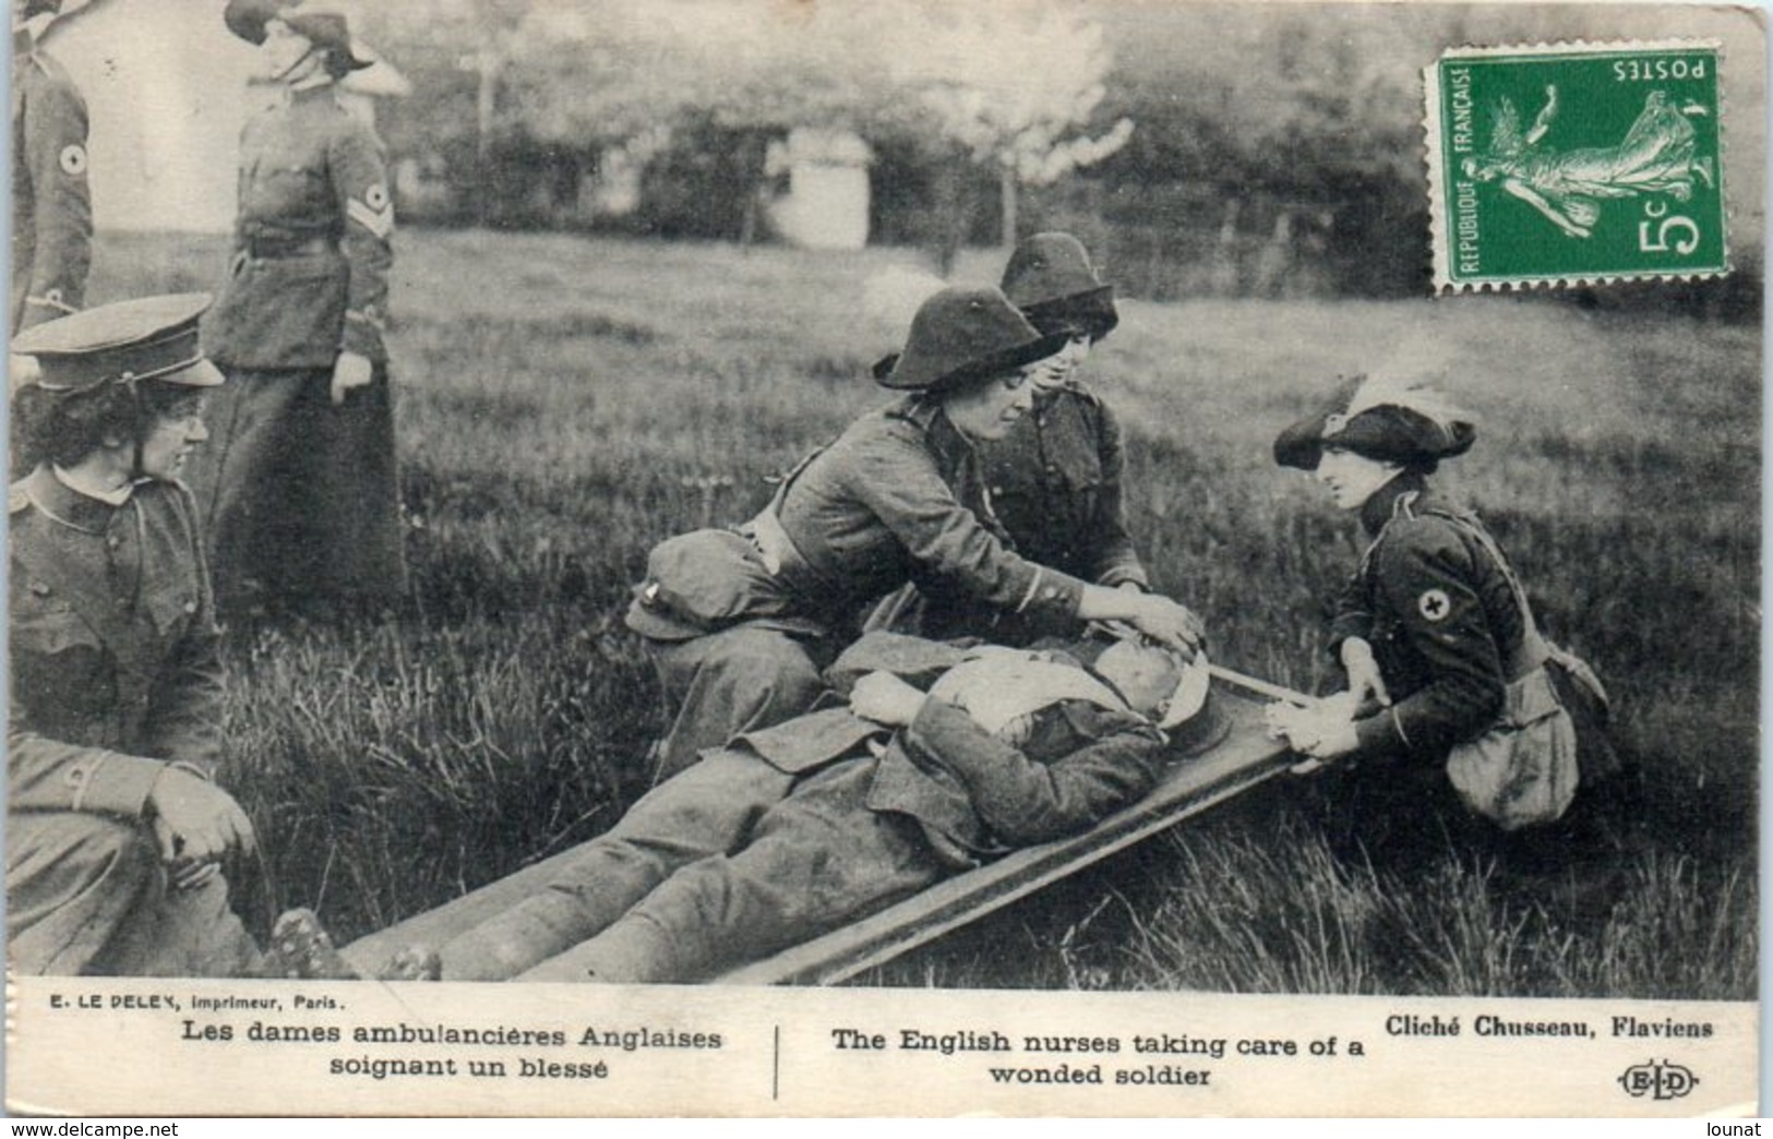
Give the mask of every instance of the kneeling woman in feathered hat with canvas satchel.
[{"label": "kneeling woman in feathered hat with canvas satchel", "polygon": [[1369,546],[1330,626],[1347,692],[1277,706],[1269,724],[1300,752],[1363,768],[1344,821],[1371,852],[1551,823],[1617,782],[1594,674],[1539,635],[1477,516],[1429,486],[1473,438],[1440,394],[1356,380],[1275,442],[1282,467],[1360,513]]}]

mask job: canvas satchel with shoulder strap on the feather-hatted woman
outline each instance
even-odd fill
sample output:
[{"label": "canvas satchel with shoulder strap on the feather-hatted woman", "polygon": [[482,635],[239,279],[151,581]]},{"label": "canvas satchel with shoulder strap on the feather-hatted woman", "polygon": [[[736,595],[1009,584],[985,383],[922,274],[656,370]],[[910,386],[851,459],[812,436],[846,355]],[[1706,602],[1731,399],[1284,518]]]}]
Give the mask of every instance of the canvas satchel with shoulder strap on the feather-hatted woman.
[{"label": "canvas satchel with shoulder strap on the feather-hatted woman", "polygon": [[1509,662],[1502,715],[1480,736],[1456,743],[1447,754],[1447,779],[1466,807],[1504,830],[1553,823],[1576,795],[1576,724],[1558,703],[1550,667],[1594,676],[1587,664],[1551,646],[1534,623],[1527,593],[1509,561],[1482,527],[1436,511],[1477,539],[1509,580],[1521,612],[1521,648]]}]

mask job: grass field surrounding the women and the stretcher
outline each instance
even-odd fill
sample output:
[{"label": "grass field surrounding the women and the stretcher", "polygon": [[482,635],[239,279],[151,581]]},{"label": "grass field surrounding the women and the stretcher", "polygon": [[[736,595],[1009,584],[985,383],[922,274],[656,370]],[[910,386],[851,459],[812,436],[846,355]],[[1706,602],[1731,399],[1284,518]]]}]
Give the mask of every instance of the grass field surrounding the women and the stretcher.
[{"label": "grass field surrounding the women and the stretcher", "polygon": [[[216,240],[112,236],[94,300],[211,287]],[[645,550],[736,522],[881,399],[910,254],[406,232],[392,334],[413,598],[367,628],[229,630],[227,782],[255,921],[346,939],[608,827],[644,788],[656,681],[621,626]],[[961,277],[991,279],[977,257]],[[1110,266],[1112,275],[1112,266]],[[1505,296],[1124,303],[1090,374],[1129,429],[1135,536],[1216,656],[1312,688],[1353,520],[1269,442],[1314,385],[1424,330],[1484,413],[1445,483],[1548,632],[1613,692],[1649,797],[1610,912],[1454,859],[1332,857],[1307,781],[1117,857],[876,983],[1750,997],[1755,992],[1757,328]]]}]

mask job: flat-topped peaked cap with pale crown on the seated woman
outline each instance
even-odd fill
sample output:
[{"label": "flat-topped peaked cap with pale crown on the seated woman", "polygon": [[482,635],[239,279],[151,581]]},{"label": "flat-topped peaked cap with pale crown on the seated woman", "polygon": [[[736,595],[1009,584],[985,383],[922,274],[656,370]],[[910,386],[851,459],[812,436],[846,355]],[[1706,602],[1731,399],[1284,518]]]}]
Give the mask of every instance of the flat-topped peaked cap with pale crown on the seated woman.
[{"label": "flat-topped peaked cap with pale crown on the seated woman", "polygon": [[142,296],[35,325],[12,351],[35,357],[35,383],[46,392],[90,392],[106,383],[158,380],[181,387],[216,387],[222,373],[197,344],[197,318],[207,293]]}]

